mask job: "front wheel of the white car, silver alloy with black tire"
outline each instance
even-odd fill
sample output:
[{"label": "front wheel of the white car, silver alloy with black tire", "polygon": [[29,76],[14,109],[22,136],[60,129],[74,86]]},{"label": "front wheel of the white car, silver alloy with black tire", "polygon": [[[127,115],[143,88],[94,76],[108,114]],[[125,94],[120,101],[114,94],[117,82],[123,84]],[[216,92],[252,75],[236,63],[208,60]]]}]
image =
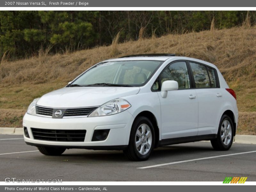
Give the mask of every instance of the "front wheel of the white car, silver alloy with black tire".
[{"label": "front wheel of the white car, silver alloy with black tire", "polygon": [[147,117],[137,117],[132,124],[129,145],[124,150],[124,155],[132,161],[145,161],[152,154],[154,145],[153,124]]}]

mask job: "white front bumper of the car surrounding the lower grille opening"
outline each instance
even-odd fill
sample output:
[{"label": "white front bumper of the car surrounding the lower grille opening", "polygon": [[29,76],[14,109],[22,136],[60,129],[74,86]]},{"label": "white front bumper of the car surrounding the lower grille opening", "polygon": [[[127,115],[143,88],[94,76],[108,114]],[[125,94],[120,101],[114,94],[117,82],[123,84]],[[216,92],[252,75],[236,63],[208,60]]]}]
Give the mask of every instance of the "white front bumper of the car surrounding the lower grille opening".
[{"label": "white front bumper of the car surrounding the lower grille opening", "polygon": [[[129,143],[133,120],[134,117],[127,110],[110,116],[62,119],[34,116],[26,113],[23,117],[23,126],[27,127],[30,138],[24,136],[24,140],[28,145],[33,146],[88,149],[123,149]],[[33,137],[31,128],[54,130],[86,130],[86,134],[83,142],[36,140]],[[110,129],[107,139],[102,141],[92,141],[94,130],[99,129]]]}]

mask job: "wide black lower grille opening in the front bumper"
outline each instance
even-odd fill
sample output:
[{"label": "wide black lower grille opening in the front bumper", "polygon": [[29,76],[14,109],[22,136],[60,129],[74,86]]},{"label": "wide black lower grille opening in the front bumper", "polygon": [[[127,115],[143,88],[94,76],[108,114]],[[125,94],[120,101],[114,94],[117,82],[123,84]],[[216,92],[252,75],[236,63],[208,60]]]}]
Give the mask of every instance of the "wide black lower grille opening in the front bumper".
[{"label": "wide black lower grille opening in the front bumper", "polygon": [[86,130],[55,130],[31,128],[34,139],[46,141],[84,141]]}]

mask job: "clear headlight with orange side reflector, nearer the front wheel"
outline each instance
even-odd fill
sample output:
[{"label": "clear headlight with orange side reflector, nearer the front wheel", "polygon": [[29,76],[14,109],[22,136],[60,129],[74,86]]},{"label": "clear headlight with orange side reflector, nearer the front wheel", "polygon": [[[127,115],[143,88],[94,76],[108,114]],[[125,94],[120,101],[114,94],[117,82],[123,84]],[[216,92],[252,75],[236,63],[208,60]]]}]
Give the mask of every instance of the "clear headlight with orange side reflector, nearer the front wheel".
[{"label": "clear headlight with orange side reflector, nearer the front wheel", "polygon": [[101,105],[99,108],[95,109],[89,117],[93,116],[106,116],[106,115],[114,115],[120,113],[131,107],[131,104],[124,99],[114,99],[112,101],[108,101],[107,103]]}]

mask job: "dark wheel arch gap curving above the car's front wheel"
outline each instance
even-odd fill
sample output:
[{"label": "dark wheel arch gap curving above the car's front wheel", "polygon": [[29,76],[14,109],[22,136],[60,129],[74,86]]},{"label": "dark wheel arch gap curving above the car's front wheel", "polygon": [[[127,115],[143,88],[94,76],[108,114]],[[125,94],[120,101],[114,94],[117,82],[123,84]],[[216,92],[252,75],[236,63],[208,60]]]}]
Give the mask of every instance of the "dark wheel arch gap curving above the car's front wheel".
[{"label": "dark wheel arch gap curving above the car's front wheel", "polygon": [[153,124],[153,128],[154,128],[154,131],[155,131],[155,146],[154,146],[154,148],[157,148],[158,145],[159,145],[159,127],[158,127],[158,122],[157,122],[156,116],[150,111],[141,111],[134,118],[134,120],[139,116],[147,117],[151,121],[151,123]]}]

